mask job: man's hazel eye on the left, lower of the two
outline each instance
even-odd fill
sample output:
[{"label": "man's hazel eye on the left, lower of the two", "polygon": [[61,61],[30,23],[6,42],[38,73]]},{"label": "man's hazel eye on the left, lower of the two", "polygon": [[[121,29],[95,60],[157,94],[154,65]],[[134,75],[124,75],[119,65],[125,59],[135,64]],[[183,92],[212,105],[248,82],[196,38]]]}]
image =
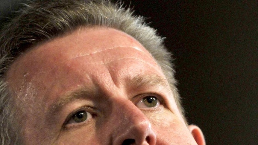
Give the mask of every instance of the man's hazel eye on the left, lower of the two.
[{"label": "man's hazel eye on the left, lower of the two", "polygon": [[92,115],[85,110],[78,111],[69,117],[65,124],[81,123],[92,118]]}]

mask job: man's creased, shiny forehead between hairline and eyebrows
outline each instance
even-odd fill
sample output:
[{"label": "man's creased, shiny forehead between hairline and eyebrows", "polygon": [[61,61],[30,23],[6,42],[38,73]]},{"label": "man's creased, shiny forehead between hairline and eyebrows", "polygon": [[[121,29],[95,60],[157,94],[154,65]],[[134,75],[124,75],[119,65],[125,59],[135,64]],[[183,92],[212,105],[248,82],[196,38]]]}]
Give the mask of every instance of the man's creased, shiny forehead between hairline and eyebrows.
[{"label": "man's creased, shiny forehead between hairline and eyebrows", "polygon": [[[19,57],[10,67],[7,80],[16,94],[21,94],[23,86],[47,90],[57,82],[60,88],[98,78],[106,83],[119,82],[119,75],[143,73],[149,67],[163,75],[151,54],[126,33],[112,28],[80,28]],[[104,75],[112,78],[101,77]]]}]

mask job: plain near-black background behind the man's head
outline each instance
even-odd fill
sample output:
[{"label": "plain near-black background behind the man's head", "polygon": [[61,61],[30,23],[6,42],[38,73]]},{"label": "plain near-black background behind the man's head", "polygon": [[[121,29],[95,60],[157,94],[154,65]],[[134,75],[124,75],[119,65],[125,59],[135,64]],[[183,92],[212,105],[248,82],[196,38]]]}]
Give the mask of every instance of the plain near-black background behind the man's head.
[{"label": "plain near-black background behind the man's head", "polygon": [[[0,22],[15,5],[1,0]],[[258,1],[125,5],[166,37],[186,117],[203,130],[207,144],[258,144]]]}]

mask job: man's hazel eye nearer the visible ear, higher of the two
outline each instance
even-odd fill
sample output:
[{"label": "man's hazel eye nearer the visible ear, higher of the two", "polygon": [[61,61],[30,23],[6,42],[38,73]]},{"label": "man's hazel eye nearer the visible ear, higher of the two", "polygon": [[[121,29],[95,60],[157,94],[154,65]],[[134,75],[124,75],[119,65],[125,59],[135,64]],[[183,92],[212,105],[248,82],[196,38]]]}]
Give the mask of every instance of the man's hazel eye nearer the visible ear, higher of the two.
[{"label": "man's hazel eye nearer the visible ear, higher of the two", "polygon": [[139,108],[153,108],[160,105],[160,101],[157,99],[157,97],[154,96],[147,96],[142,98],[136,106]]}]

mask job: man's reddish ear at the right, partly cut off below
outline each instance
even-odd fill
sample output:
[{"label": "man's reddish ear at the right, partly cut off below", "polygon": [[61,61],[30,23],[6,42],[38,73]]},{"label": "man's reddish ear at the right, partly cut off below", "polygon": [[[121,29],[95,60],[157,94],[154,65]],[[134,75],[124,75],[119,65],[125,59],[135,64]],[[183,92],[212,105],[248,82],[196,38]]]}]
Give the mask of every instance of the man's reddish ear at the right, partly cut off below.
[{"label": "man's reddish ear at the right, partly cut off below", "polygon": [[205,139],[201,129],[196,125],[189,125],[188,128],[192,133],[192,136],[195,139],[196,143],[198,145],[205,145]]}]

